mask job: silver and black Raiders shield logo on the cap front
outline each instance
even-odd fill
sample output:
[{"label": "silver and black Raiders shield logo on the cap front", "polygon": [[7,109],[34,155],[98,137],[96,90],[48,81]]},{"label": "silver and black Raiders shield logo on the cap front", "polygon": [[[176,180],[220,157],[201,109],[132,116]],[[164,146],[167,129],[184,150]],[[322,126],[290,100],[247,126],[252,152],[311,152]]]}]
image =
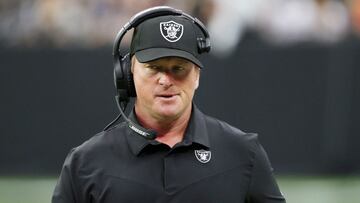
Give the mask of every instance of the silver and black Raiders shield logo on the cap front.
[{"label": "silver and black Raiders shield logo on the cap front", "polygon": [[184,26],[174,21],[161,22],[160,32],[167,41],[176,42],[181,38]]}]

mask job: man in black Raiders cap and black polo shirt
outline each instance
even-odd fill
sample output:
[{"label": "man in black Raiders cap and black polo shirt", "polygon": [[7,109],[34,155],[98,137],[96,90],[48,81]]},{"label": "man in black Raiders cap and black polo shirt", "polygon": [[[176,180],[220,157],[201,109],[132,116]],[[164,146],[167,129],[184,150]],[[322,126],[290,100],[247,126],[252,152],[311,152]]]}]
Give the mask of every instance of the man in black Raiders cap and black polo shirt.
[{"label": "man in black Raiders cap and black polo shirt", "polygon": [[[160,29],[159,29],[160,28]],[[285,202],[257,135],[203,114],[198,24],[163,15],[141,22],[130,48],[136,101],[123,122],[74,148],[53,203]]]}]

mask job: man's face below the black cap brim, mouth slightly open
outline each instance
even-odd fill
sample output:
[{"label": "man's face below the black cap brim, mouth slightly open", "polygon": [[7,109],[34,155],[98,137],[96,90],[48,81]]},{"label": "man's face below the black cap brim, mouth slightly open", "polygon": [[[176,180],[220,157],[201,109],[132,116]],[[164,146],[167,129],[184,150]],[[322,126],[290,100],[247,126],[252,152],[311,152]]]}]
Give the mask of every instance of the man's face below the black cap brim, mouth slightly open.
[{"label": "man's face below the black cap brim, mouth slightly open", "polygon": [[166,57],[140,63],[133,57],[132,72],[137,113],[158,121],[171,121],[191,109],[200,76],[199,68],[192,62]]}]

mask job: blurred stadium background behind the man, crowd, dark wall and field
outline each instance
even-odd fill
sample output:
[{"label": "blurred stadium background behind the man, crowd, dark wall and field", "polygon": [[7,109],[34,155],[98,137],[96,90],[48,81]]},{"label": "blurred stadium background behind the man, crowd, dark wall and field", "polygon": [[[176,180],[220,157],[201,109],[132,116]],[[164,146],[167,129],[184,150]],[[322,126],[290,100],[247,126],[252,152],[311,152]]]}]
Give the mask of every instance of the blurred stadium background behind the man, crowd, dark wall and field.
[{"label": "blurred stadium background behind the man, crowd, dark wall and field", "polygon": [[67,152],[117,114],[116,32],[154,5],[208,25],[195,102],[259,133],[288,202],[360,201],[359,0],[2,0],[0,202],[50,201]]}]

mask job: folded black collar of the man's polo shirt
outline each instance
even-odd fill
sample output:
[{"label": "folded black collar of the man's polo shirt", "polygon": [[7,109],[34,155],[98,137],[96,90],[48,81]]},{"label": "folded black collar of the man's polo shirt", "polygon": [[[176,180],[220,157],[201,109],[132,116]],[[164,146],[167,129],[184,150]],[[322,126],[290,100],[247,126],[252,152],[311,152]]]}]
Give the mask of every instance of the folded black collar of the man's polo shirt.
[{"label": "folded black collar of the man's polo shirt", "polygon": [[[134,109],[131,111],[129,119],[134,123],[139,124]],[[161,144],[156,140],[148,140],[140,136],[129,127],[128,132],[129,133],[126,133],[127,141],[130,149],[135,155],[139,155],[140,152],[143,151],[148,145]],[[204,146],[205,148],[210,148],[210,142],[205,123],[205,115],[195,105],[192,106],[191,117],[185,130],[183,142],[185,145],[196,143]]]}]

